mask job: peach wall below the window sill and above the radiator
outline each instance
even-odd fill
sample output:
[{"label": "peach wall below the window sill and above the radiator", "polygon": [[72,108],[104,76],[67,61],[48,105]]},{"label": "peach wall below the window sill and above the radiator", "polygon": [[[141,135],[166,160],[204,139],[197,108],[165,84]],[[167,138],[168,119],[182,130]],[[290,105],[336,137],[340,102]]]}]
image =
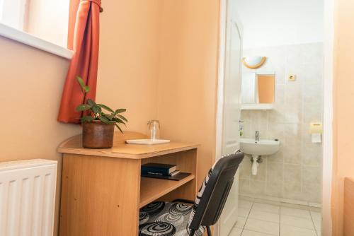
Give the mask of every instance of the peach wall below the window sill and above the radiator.
[{"label": "peach wall below the window sill and above the radiator", "polygon": [[[81,132],[79,126],[57,122],[68,66],[67,59],[0,37],[0,162],[51,159],[61,170],[57,146]],[[59,187],[60,181],[57,209]]]}]

